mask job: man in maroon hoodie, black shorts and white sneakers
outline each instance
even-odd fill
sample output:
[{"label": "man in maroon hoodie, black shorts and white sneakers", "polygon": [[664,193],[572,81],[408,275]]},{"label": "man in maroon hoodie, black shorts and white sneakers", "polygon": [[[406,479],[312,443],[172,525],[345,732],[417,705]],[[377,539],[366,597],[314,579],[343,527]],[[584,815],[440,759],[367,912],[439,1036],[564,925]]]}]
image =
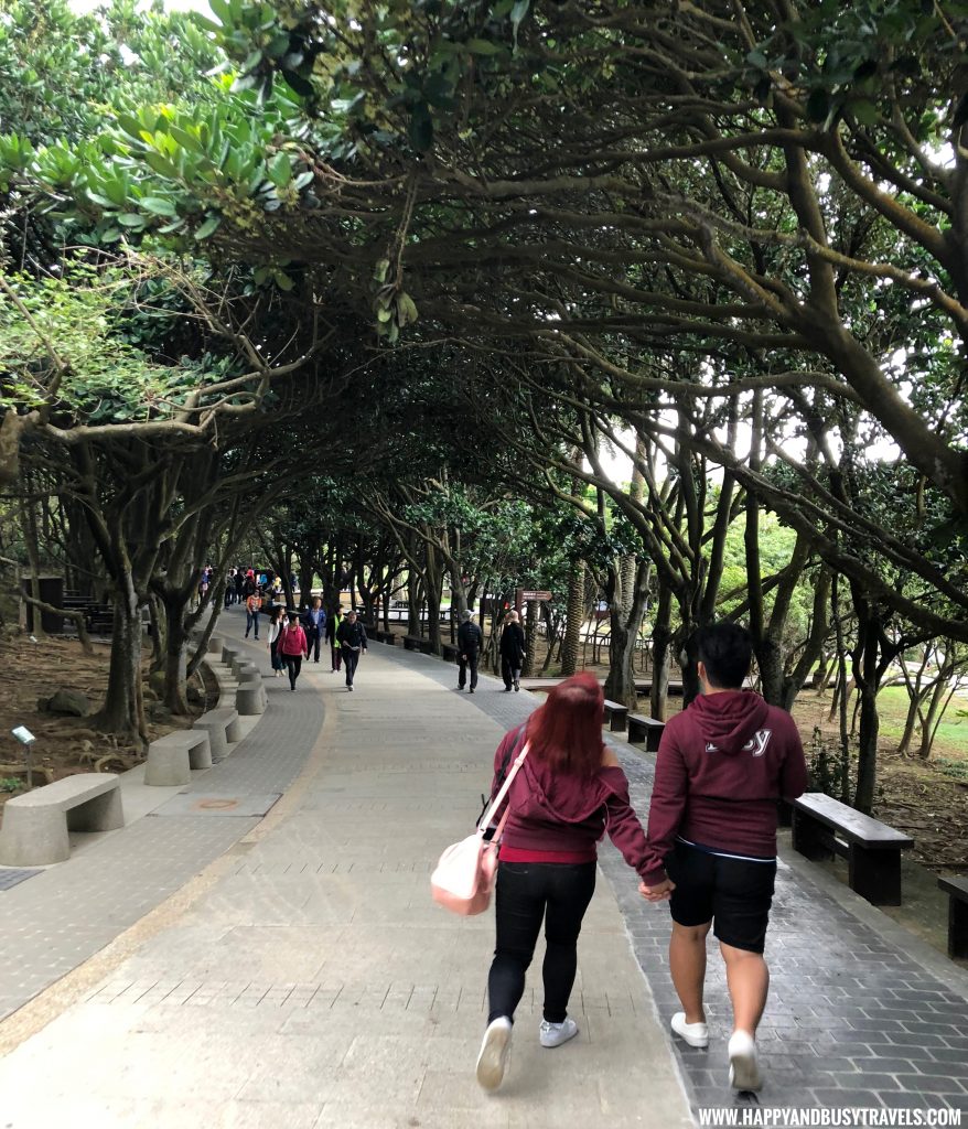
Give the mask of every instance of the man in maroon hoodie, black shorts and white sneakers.
[{"label": "man in maroon hoodie, black shorts and white sneakers", "polygon": [[690,1047],[709,1041],[703,986],[713,926],[733,1004],[730,1085],[759,1089],[755,1038],[769,987],[762,953],[777,800],[803,795],[806,764],[791,716],[741,689],[752,660],[749,633],[717,623],[698,632],[697,648],[703,692],[662,735],[639,890],[670,901],[669,969],[683,1008],[672,1030]]}]

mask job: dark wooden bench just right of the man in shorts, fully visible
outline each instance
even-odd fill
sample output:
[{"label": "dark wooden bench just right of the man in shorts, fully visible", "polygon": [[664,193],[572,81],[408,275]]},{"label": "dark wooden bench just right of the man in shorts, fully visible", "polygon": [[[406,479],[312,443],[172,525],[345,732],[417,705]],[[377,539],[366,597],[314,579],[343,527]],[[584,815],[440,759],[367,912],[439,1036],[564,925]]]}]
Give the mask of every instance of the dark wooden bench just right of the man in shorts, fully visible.
[{"label": "dark wooden bench just right of the man in shorts, fully visible", "polygon": [[793,802],[793,847],[806,858],[847,858],[851,889],[874,905],[900,905],[900,852],[914,840],[819,791]]}]

